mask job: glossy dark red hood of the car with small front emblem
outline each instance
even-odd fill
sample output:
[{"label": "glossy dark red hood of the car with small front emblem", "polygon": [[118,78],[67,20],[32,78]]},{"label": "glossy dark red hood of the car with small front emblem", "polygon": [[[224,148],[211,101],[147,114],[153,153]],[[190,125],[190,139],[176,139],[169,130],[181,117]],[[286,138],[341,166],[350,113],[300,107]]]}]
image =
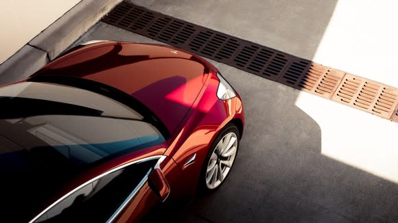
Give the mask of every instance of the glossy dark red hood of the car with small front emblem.
[{"label": "glossy dark red hood of the car with small front emblem", "polygon": [[117,88],[151,109],[173,134],[208,74],[206,62],[173,47],[107,41],[80,46],[33,76],[67,75]]}]

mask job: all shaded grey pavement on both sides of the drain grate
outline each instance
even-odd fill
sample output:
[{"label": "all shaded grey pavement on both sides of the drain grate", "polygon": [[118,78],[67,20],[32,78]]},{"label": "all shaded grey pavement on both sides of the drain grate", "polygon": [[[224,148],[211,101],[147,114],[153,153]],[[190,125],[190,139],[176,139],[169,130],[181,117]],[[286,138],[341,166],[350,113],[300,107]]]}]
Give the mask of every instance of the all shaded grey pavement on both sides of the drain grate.
[{"label": "all shaded grey pavement on both sides of the drain grate", "polygon": [[[336,1],[132,1],[191,23],[311,60]],[[156,42],[99,23],[78,42]],[[242,96],[246,131],[222,187],[162,222],[396,222],[398,185],[321,155],[319,125],[298,90],[213,62]],[[338,140],[338,139],[337,139]]]}]

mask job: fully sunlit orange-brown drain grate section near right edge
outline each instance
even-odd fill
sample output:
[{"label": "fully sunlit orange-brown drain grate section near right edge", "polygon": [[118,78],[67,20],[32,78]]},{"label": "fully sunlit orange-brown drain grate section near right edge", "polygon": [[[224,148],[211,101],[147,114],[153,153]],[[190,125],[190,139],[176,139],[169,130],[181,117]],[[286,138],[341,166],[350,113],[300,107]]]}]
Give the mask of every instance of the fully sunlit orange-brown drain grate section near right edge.
[{"label": "fully sunlit orange-brown drain grate section near right edge", "polygon": [[332,100],[389,119],[393,116],[398,104],[398,90],[347,74]]}]

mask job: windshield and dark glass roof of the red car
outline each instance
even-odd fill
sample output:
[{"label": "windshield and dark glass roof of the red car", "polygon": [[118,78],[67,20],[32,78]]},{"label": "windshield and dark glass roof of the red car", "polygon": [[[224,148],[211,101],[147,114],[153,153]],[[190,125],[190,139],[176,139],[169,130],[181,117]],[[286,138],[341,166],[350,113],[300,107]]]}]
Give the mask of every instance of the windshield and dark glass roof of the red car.
[{"label": "windshield and dark glass roof of the red car", "polygon": [[90,166],[165,142],[139,112],[80,88],[16,83],[0,88],[0,103],[5,212],[37,213],[47,197]]}]

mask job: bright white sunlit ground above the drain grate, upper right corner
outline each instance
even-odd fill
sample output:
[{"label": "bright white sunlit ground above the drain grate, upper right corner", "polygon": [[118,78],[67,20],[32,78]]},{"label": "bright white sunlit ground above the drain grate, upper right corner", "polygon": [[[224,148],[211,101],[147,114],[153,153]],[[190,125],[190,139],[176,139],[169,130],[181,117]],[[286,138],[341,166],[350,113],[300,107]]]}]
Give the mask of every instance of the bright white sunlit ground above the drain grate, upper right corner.
[{"label": "bright white sunlit ground above the drain grate, upper right corner", "polygon": [[313,60],[398,88],[398,1],[340,0]]}]

